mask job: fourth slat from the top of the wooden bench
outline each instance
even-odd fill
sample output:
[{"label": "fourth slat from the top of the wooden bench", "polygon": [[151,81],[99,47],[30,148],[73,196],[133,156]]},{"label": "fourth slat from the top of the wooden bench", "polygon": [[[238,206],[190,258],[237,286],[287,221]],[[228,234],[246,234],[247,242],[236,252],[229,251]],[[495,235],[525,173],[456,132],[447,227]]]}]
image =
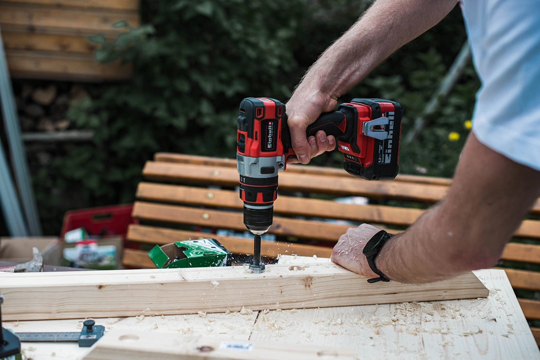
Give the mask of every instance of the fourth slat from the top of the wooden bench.
[{"label": "fourth slat from the top of the wooden bench", "polygon": [[[246,230],[244,217],[241,212],[198,209],[176,205],[157,205],[137,201],[133,205],[132,216],[136,219],[151,221],[185,223],[240,231]],[[349,227],[348,225],[274,216],[273,225],[268,230],[268,233],[335,242],[338,241],[339,237]]]}]

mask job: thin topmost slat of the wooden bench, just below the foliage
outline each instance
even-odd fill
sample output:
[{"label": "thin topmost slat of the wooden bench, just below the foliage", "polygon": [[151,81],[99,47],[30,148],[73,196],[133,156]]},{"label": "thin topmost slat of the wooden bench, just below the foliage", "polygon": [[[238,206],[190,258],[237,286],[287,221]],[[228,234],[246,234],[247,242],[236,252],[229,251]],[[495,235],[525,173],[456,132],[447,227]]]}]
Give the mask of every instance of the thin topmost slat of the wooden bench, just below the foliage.
[{"label": "thin topmost slat of the wooden bench, just below the foliage", "polygon": [[[163,162],[176,162],[180,164],[194,164],[194,165],[208,165],[208,166],[224,166],[224,167],[237,167],[236,160],[224,159],[224,158],[211,158],[198,155],[176,154],[176,153],[156,153],[154,154],[154,161]],[[312,165],[287,165],[288,172],[297,174],[311,174],[311,175],[327,175],[327,176],[344,176],[356,178],[350,175],[343,169],[312,166]],[[434,178],[433,176],[417,176],[417,175],[397,175],[396,181],[404,182],[416,182],[417,184],[431,184],[431,185],[446,185],[449,186],[452,183],[451,179]]]}]

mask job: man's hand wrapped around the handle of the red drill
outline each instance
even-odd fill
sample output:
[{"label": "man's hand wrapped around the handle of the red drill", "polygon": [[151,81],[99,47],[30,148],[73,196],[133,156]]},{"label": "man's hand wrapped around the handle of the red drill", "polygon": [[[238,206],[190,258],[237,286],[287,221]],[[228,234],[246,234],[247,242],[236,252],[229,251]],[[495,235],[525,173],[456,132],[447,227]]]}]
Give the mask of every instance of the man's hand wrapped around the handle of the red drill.
[{"label": "man's hand wrapped around the handle of the red drill", "polygon": [[306,91],[302,86],[297,89],[291,100],[287,103],[287,124],[291,131],[295,159],[289,162],[301,162],[307,164],[309,160],[325,151],[332,151],[336,145],[336,139],[327,136],[324,131],[318,131],[315,136],[306,137],[306,129],[323,112],[335,110],[338,101],[320,91]]}]

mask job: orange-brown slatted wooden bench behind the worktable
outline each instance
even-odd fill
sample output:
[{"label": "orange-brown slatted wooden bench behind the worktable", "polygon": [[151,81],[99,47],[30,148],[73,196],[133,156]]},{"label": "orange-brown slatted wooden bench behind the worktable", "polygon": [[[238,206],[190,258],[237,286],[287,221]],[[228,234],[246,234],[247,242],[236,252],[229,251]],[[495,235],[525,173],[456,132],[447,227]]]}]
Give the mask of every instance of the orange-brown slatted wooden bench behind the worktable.
[{"label": "orange-brown slatted wooden bench behind the worktable", "polygon": [[[147,244],[148,248],[153,244],[212,236],[233,254],[253,252],[252,240],[194,230],[200,227],[245,230],[243,203],[234,190],[238,187],[235,160],[158,153],[154,161],[146,162],[143,175],[147,181],[138,186],[138,201],[132,214],[139,223],[128,230],[129,246]],[[450,179],[414,175],[372,182],[355,178],[342,169],[288,166],[287,171],[279,174],[280,195],[274,203],[274,223],[268,232],[275,234],[278,241],[264,241],[262,255],[329,257],[339,236],[356,226],[336,220],[367,222],[398,232],[413,223],[424,211],[422,208],[441,200],[450,184]],[[332,200],[339,196],[365,196],[370,203],[348,205]],[[401,205],[377,205],[381,200],[398,200],[392,202]],[[404,207],[413,203],[420,208]],[[538,214],[540,201],[531,209],[531,215]],[[540,291],[540,272],[529,269],[540,264],[537,244],[540,221],[524,220],[515,237],[522,242],[511,242],[505,247],[501,265],[511,263],[517,267],[505,270],[518,295],[523,291],[528,294]],[[147,250],[126,248],[123,263],[127,267],[154,267],[146,253]],[[528,320],[540,320],[540,301],[518,300]],[[532,331],[540,344],[540,328],[532,327]]]}]

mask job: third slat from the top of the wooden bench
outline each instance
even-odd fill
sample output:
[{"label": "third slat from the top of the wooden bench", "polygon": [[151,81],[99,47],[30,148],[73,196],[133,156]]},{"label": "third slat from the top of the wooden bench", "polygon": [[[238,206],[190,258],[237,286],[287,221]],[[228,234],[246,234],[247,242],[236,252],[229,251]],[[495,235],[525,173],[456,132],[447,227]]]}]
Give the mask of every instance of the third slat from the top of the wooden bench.
[{"label": "third slat from the top of the wooden bench", "polygon": [[[149,182],[139,183],[136,197],[139,200],[188,205],[232,209],[242,209],[244,207],[244,202],[240,200],[238,192],[235,191]],[[278,200],[274,202],[274,213],[391,225],[410,225],[423,213],[423,210],[382,205],[352,205],[329,200],[279,195]]]}]

